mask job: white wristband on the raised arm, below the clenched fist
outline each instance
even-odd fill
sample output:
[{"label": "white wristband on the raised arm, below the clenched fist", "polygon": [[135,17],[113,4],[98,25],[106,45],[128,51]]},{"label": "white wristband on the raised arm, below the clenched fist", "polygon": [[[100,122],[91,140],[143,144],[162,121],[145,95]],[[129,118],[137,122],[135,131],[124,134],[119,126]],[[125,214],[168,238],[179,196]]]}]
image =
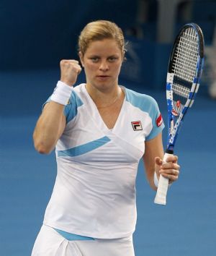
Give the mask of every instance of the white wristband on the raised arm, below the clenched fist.
[{"label": "white wristband on the raised arm, below the clenched fist", "polygon": [[73,86],[69,86],[64,82],[58,81],[50,100],[66,106],[69,98],[71,97],[72,90]]}]

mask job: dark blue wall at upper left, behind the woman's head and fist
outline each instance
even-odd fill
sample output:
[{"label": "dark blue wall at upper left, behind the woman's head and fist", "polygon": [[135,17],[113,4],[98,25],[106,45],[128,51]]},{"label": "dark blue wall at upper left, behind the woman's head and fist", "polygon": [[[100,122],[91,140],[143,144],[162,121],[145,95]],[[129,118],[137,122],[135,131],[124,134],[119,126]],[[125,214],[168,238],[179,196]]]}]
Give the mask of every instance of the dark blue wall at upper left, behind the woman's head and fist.
[{"label": "dark blue wall at upper left, behind the woman's head and fist", "polygon": [[136,1],[1,1],[0,69],[56,67],[76,57],[78,34],[87,22],[108,19],[123,29],[135,22]]}]

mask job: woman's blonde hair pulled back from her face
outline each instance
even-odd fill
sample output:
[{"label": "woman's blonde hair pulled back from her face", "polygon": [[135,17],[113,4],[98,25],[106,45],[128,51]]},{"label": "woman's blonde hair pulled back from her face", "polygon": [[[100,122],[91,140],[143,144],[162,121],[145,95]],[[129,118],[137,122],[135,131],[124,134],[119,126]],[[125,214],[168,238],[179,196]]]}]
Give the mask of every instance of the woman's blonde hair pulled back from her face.
[{"label": "woman's blonde hair pulled back from her face", "polygon": [[96,20],[84,27],[78,37],[78,52],[81,52],[81,55],[84,56],[89,43],[107,38],[116,40],[122,54],[124,54],[125,38],[122,30],[114,22],[109,22],[108,20]]}]

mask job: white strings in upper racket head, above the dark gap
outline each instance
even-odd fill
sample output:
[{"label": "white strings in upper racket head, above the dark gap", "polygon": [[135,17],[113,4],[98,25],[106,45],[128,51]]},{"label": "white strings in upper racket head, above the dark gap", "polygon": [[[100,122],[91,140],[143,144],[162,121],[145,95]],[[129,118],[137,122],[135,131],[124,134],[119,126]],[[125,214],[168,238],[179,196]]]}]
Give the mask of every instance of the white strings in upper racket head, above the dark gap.
[{"label": "white strings in upper racket head, above the dark gap", "polygon": [[192,28],[189,28],[181,35],[176,47],[172,71],[182,80],[193,82],[197,69],[197,58],[197,35]]}]

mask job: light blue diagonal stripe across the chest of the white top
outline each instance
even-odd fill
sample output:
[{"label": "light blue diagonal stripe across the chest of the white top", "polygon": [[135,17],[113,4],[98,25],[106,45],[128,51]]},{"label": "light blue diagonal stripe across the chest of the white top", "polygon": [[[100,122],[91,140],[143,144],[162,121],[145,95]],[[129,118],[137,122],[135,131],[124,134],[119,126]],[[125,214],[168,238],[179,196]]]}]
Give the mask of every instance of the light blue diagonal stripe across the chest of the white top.
[{"label": "light blue diagonal stripe across the chest of the white top", "polygon": [[104,136],[102,138],[99,138],[98,140],[93,140],[91,142],[88,142],[83,145],[79,145],[74,148],[69,148],[67,150],[58,150],[57,154],[58,154],[58,157],[83,155],[85,153],[88,153],[88,152],[96,149],[96,148],[101,147],[102,145],[106,144],[109,141],[110,141],[109,137]]}]

